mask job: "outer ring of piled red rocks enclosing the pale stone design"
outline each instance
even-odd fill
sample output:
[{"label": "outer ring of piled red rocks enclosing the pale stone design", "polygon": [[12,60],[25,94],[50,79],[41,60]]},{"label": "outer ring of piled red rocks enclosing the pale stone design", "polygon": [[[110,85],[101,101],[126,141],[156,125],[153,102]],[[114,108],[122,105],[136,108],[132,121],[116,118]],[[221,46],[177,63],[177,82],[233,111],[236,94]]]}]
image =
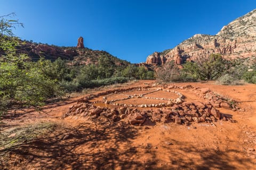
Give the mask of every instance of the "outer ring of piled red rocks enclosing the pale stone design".
[{"label": "outer ring of piled red rocks enclosing the pale stone design", "polygon": [[[141,88],[142,89],[142,88]],[[146,90],[147,88],[143,88]],[[163,87],[164,90],[170,89],[197,89],[202,91],[203,97],[212,95],[212,92],[207,89],[198,89],[192,86],[186,87],[177,87],[177,86],[169,86]],[[129,89],[118,89],[118,92],[123,91],[131,91],[138,90],[138,88],[129,88]],[[103,100],[107,100],[106,96],[110,94],[117,94],[116,90],[108,90],[106,92],[101,92],[98,94],[88,95],[81,100],[77,101],[76,105],[73,105],[69,108],[69,111],[63,115],[63,117],[67,116],[81,116],[91,119],[99,119],[103,121],[117,122],[120,120],[124,120],[129,122],[132,125],[144,125],[148,123],[156,123],[156,122],[175,122],[177,124],[189,124],[191,122],[214,122],[217,120],[225,120],[229,121],[230,118],[221,114],[218,107],[223,107],[230,109],[231,106],[218,98],[218,103],[221,100],[220,104],[214,103],[215,96],[211,97],[211,100],[206,103],[202,103],[201,101],[193,101],[187,102],[182,101],[181,103],[170,103],[168,107],[162,108],[147,108],[142,110],[141,108],[134,108],[130,106],[119,106],[119,107],[102,107],[95,106],[94,103],[90,102],[90,99],[99,96],[103,97]],[[178,92],[177,92],[178,93]],[[181,94],[179,96],[182,96]],[[140,107],[140,106],[138,106]],[[230,120],[231,121],[231,120]]]}]

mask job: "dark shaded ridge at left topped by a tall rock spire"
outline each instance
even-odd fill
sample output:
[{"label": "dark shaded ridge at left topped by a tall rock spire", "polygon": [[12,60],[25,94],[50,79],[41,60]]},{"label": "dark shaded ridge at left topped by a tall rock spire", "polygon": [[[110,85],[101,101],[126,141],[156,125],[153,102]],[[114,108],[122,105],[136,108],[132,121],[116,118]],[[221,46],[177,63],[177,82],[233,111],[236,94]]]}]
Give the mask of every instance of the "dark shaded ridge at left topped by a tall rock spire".
[{"label": "dark shaded ridge at left topped by a tall rock spire", "polygon": [[[120,60],[117,57],[103,50],[92,50],[84,47],[83,38],[78,38],[77,47],[59,47],[42,43],[33,43],[33,41],[20,40],[21,46],[17,47],[18,54],[27,54],[32,61],[38,61],[40,58],[55,61],[57,58],[68,60],[70,65],[97,64],[101,56],[106,56],[111,63],[116,66],[126,66],[130,64],[127,61]],[[3,52],[0,51],[0,55]],[[145,65],[147,66],[147,65]]]}]

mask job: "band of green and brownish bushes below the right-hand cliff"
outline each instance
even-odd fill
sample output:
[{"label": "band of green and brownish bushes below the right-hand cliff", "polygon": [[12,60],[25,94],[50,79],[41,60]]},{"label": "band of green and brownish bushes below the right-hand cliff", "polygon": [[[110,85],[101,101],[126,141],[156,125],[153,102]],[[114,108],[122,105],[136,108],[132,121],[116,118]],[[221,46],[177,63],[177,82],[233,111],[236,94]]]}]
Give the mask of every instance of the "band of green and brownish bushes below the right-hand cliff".
[{"label": "band of green and brownish bushes below the right-hand cliff", "polygon": [[165,82],[216,80],[219,84],[234,85],[242,82],[256,83],[255,57],[225,60],[220,54],[186,62],[179,69],[173,62],[159,68],[157,78]]}]

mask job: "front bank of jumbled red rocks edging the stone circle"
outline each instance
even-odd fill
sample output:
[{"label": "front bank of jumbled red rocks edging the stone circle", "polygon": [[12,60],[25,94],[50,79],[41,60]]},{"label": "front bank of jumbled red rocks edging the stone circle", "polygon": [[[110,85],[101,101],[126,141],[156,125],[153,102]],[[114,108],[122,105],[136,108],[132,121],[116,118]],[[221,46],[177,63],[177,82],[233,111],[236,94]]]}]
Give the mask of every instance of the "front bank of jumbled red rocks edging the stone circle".
[{"label": "front bank of jumbled red rocks edging the stone circle", "polygon": [[220,114],[218,109],[210,103],[183,102],[182,104],[173,104],[173,106],[161,109],[141,111],[137,108],[119,107],[108,108],[94,106],[92,103],[84,101],[70,107],[69,111],[63,117],[79,115],[81,117],[99,118],[100,120],[116,122],[122,119],[130,124],[143,124],[145,121],[156,122],[175,122],[177,124],[189,124],[190,122],[214,122],[220,119],[228,120],[225,115]]}]

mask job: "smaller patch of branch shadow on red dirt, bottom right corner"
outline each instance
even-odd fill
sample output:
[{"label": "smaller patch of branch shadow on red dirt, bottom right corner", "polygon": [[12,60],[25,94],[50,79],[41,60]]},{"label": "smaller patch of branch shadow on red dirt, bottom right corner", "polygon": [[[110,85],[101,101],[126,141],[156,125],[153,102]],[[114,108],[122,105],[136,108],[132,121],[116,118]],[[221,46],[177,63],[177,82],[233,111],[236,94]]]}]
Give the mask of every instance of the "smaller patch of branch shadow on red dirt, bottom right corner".
[{"label": "smaller patch of branch shadow on red dirt, bottom right corner", "polygon": [[253,160],[240,150],[220,150],[218,146],[198,149],[199,147],[188,142],[171,142],[180,147],[166,147],[169,149],[170,162],[169,165],[162,166],[162,169],[253,169]]}]

